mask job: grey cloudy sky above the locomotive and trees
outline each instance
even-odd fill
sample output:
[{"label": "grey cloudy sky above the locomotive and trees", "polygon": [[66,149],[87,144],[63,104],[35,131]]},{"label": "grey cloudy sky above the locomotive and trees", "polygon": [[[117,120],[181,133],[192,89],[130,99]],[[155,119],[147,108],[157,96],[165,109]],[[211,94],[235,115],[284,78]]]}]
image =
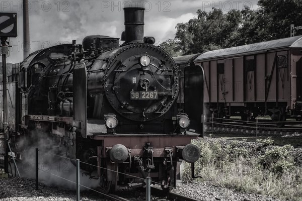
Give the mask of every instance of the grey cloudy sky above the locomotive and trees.
[{"label": "grey cloudy sky above the locomotive and trees", "polygon": [[[196,16],[198,9],[210,11],[212,7],[224,12],[231,9],[241,10],[244,5],[257,9],[257,0],[250,1],[185,1],[185,0],[149,0],[149,1],[34,1],[29,0],[31,52],[50,45],[71,43],[82,40],[87,35],[108,35],[120,38],[124,30],[124,7],[144,7],[144,35],[153,36],[157,44],[174,38],[175,26],[187,22]],[[17,13],[18,37],[11,39],[8,62],[23,60],[23,14],[22,1],[1,0],[0,12]]]}]

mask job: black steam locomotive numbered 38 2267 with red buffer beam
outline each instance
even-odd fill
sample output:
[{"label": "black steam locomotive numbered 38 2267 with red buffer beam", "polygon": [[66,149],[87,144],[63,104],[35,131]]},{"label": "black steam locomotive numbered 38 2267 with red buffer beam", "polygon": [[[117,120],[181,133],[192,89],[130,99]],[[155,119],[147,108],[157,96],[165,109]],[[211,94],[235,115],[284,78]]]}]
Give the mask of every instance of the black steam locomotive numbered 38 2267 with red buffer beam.
[{"label": "black steam locomotive numbered 38 2267 with red buffer beam", "polygon": [[[143,37],[144,9],[124,11],[122,45],[118,38],[88,36],[82,45],[36,51],[14,70],[11,143],[18,156],[50,136],[57,153],[98,171],[105,191],[136,182],[133,176],[150,176],[170,190],[178,163],[194,167],[200,156],[190,142],[202,135],[203,70],[192,64],[180,76],[155,39]],[[183,105],[177,98],[184,90]]]}]

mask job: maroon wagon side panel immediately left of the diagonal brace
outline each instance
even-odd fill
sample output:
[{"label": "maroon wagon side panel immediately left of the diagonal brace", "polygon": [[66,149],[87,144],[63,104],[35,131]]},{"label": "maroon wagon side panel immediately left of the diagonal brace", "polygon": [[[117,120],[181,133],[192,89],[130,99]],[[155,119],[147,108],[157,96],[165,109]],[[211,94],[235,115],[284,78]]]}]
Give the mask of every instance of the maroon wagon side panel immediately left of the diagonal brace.
[{"label": "maroon wagon side panel immediately left of the diagonal brace", "polygon": [[256,55],[256,102],[265,102],[265,54]]}]

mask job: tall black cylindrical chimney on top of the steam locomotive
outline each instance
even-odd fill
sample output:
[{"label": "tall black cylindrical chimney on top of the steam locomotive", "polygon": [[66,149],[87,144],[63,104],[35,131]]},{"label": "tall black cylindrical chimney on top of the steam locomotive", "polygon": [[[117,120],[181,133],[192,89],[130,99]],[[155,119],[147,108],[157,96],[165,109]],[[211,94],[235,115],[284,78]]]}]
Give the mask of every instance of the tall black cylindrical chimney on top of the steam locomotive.
[{"label": "tall black cylindrical chimney on top of the steam locomotive", "polygon": [[125,43],[143,43],[144,8],[124,8]]}]

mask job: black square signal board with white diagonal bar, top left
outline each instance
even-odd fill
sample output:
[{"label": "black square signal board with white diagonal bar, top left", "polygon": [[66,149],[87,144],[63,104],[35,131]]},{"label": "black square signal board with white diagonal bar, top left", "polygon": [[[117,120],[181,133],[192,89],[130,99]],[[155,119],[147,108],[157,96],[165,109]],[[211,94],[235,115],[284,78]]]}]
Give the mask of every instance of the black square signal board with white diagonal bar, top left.
[{"label": "black square signal board with white diagonal bar, top left", "polygon": [[17,37],[17,13],[0,13],[0,37]]}]

